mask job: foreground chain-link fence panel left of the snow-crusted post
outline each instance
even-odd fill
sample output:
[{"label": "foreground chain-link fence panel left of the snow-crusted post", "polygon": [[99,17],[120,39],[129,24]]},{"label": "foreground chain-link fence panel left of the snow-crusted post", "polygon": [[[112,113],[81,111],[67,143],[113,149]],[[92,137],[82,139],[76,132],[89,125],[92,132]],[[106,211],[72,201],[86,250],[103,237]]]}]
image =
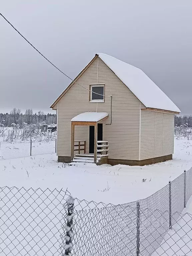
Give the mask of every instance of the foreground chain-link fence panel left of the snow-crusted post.
[{"label": "foreground chain-link fence panel left of the snow-crusted post", "polygon": [[66,192],[0,188],[0,255],[62,255]]}]

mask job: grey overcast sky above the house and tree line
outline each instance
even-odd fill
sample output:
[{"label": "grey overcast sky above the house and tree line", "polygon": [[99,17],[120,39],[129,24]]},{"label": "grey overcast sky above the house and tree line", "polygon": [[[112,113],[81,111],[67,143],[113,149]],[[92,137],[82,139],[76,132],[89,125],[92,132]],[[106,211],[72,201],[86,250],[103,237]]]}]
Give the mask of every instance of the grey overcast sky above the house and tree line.
[{"label": "grey overcast sky above the house and tree line", "polygon": [[[103,52],[141,68],[192,114],[191,0],[6,0],[0,12],[72,78]],[[0,17],[0,112],[51,112],[69,83]]]}]

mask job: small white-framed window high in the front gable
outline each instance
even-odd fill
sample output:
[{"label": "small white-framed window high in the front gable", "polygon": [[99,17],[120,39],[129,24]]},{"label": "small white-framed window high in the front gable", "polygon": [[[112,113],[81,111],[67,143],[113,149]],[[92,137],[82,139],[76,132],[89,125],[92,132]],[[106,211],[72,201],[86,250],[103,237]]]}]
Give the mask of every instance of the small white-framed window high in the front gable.
[{"label": "small white-framed window high in the front gable", "polygon": [[103,84],[93,84],[90,86],[90,102],[104,102],[105,88]]}]

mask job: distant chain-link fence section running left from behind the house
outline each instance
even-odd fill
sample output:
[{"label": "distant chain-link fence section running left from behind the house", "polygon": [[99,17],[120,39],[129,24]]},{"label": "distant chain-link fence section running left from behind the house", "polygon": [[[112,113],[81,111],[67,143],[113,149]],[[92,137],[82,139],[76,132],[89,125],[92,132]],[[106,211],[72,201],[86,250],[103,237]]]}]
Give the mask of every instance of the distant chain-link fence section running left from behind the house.
[{"label": "distant chain-link fence section running left from behind the house", "polygon": [[0,159],[52,154],[56,152],[56,139],[50,141],[0,142]]}]

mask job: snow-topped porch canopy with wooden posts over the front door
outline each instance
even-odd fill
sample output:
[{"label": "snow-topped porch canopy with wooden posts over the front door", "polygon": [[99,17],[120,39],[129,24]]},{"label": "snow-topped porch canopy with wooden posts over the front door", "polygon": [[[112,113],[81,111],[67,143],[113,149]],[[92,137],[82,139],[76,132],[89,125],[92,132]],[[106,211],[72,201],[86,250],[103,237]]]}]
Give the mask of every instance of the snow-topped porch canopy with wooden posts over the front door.
[{"label": "snow-topped porch canopy with wooden posts over the front door", "polygon": [[108,118],[109,114],[106,112],[85,112],[81,113],[71,119],[71,160],[74,157],[74,139],[75,139],[75,125],[95,126],[94,135],[94,162],[97,159],[97,123]]}]

